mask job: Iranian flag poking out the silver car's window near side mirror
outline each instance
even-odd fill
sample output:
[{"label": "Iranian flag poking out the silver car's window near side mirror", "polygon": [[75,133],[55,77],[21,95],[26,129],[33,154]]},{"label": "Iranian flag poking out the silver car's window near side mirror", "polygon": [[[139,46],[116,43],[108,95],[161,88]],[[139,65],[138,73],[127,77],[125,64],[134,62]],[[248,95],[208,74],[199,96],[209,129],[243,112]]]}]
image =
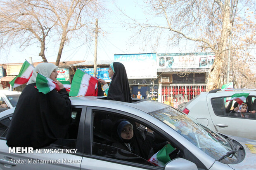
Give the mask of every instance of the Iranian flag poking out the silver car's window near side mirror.
[{"label": "Iranian flag poking out the silver car's window near side mirror", "polygon": [[160,151],[151,156],[148,161],[156,166],[164,167],[167,162],[171,161],[169,154],[174,150],[175,148],[171,144],[166,144]]}]

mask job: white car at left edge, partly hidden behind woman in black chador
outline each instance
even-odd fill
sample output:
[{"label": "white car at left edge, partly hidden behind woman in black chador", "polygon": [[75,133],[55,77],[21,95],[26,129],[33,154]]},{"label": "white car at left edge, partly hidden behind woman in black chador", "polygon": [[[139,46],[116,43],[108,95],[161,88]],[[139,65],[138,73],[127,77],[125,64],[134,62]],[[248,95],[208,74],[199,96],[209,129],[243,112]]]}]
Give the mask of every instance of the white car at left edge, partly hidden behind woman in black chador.
[{"label": "white car at left edge, partly hidden behind woman in black chador", "polygon": [[15,107],[20,94],[20,91],[0,90],[0,112]]}]

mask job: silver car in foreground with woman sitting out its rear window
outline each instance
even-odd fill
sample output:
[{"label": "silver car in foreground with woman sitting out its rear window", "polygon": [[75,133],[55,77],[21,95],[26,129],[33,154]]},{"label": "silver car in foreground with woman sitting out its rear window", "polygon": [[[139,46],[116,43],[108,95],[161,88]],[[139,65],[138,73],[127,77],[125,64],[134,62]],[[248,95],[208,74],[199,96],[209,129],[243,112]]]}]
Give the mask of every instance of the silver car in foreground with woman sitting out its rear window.
[{"label": "silver car in foreground with woman sitting out its rear window", "polygon": [[[0,169],[17,170],[247,170],[256,169],[255,140],[213,132],[186,114],[152,100],[132,103],[105,97],[71,97],[69,137],[57,139],[40,153],[9,151],[6,134],[14,108],[0,114]],[[113,123],[125,118],[154,131],[154,142],[175,148],[171,161],[158,167],[128,151],[113,147]],[[77,149],[74,153],[46,153],[50,149]]]}]

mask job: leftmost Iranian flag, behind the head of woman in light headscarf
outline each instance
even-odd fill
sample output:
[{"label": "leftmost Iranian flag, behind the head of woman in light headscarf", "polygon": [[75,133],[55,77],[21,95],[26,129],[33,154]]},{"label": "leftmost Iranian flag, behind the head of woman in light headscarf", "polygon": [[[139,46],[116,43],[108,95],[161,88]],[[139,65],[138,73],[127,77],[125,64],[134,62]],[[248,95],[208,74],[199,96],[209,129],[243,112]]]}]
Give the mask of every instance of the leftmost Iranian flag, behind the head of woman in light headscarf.
[{"label": "leftmost Iranian flag, behind the head of woman in light headscarf", "polygon": [[32,75],[33,70],[34,67],[28,63],[28,61],[25,61],[21,67],[21,70],[19,71],[19,75],[17,75],[11,82],[9,82],[9,84],[15,88],[27,83]]}]

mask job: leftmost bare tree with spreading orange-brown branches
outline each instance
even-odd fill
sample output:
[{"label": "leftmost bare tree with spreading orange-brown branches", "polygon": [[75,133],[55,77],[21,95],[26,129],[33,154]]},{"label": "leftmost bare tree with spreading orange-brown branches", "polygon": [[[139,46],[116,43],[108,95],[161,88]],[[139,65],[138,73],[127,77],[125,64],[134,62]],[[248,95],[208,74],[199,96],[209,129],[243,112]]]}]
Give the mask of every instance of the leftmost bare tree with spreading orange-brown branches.
[{"label": "leftmost bare tree with spreading orange-brown branches", "polygon": [[31,5],[29,0],[0,1],[0,47],[10,47],[19,43],[23,50],[32,44],[39,44],[39,56],[47,62],[46,40],[56,24],[50,18],[47,12],[40,10],[36,5]]}]

